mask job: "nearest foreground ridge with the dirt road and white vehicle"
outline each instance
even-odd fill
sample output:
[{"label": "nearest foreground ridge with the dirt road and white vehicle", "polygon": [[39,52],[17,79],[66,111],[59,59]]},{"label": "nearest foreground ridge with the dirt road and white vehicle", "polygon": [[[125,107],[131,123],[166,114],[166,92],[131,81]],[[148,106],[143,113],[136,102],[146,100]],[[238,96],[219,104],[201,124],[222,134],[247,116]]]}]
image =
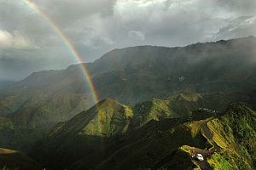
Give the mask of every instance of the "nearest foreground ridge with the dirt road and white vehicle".
[{"label": "nearest foreground ridge with the dirt road and white vehicle", "polygon": [[[254,169],[255,111],[247,105],[233,104],[223,116],[212,118],[193,122],[177,119],[148,122],[70,168]],[[201,152],[206,161],[191,160],[191,150]]]}]

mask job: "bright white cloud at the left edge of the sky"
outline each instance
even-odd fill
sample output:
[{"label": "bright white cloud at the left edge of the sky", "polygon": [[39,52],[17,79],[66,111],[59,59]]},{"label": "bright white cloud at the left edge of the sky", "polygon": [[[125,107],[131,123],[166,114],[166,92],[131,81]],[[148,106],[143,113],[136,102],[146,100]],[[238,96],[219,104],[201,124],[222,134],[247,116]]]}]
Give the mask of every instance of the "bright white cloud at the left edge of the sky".
[{"label": "bright white cloud at the left edge of the sky", "polygon": [[0,49],[34,49],[38,48],[28,37],[20,34],[19,31],[10,33],[0,30]]}]

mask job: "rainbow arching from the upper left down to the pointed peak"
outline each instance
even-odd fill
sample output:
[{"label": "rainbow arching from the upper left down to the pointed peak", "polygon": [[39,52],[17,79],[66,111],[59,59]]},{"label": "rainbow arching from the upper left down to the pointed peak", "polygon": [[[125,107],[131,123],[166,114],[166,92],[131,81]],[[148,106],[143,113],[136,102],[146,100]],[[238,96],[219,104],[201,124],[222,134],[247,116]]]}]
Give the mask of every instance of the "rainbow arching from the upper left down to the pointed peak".
[{"label": "rainbow arching from the upper left down to the pointed peak", "polygon": [[[38,7],[38,5],[36,3],[33,3],[31,0],[23,0],[24,3],[26,3],[30,8],[32,8],[33,10],[35,10],[38,14],[40,14],[44,20],[46,20],[49,23],[49,26],[51,26],[55,32],[59,35],[59,37],[61,37],[62,41],[65,42],[67,48],[70,50],[70,52],[73,54],[73,56],[75,57],[75,59],[78,60],[79,63],[83,63],[78,51],[76,50],[76,48],[74,48],[72,42],[70,42],[70,40],[67,38],[67,36],[65,35],[65,33],[63,31],[61,31],[61,29],[55,25],[54,20],[50,19],[49,16],[47,14],[45,14],[41,8]],[[98,96],[96,94],[96,89],[94,88],[93,83],[91,82],[90,79],[90,74],[87,71],[86,67],[84,65],[80,65],[81,69],[83,71],[83,75],[85,77],[86,82],[88,82],[89,87],[90,87],[90,91],[92,92],[92,96],[93,99],[95,101],[95,103],[98,103],[99,99]]]}]

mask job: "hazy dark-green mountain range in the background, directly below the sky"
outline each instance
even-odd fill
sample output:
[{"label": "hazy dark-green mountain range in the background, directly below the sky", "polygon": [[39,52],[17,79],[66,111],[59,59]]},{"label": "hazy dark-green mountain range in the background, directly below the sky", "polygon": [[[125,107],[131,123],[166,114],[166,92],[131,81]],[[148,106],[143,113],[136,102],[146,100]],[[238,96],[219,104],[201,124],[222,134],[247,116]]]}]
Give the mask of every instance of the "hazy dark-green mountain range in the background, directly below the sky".
[{"label": "hazy dark-green mountain range in the background, directly below the sky", "polygon": [[[183,92],[244,93],[256,85],[255,45],[256,38],[247,37],[183,48],[139,46],[114,49],[84,65],[100,99],[125,105]],[[15,116],[26,128],[67,121],[95,104],[80,65],[32,73],[0,94],[0,116]]]}]

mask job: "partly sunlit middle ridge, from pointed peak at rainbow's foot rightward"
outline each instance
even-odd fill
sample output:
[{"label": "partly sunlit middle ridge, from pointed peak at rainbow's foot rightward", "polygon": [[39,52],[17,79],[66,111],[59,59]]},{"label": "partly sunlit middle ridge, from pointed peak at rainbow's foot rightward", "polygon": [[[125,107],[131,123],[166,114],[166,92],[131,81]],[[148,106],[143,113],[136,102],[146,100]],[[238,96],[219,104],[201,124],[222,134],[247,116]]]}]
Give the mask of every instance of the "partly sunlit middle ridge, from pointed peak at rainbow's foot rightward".
[{"label": "partly sunlit middle ridge, from pointed peak at rainbow's foot rightward", "polygon": [[[196,96],[200,99],[197,99]],[[62,167],[67,165],[68,162],[79,160],[96,150],[103,150],[108,147],[108,144],[113,143],[114,147],[119,146],[119,144],[116,144],[116,140],[122,141],[122,136],[126,134],[135,135],[136,139],[140,140],[148,132],[155,132],[154,128],[156,126],[166,128],[165,126],[173,126],[172,123],[177,126],[180,122],[187,120],[187,112],[192,114],[192,111],[203,107],[205,103],[207,103],[207,100],[201,94],[192,93],[180,94],[172,99],[153,99],[139,103],[134,107],[122,105],[113,99],[103,99],[88,111],[83,111],[70,121],[60,123],[53,128],[49,137],[35,146],[36,149],[32,156],[38,156],[37,153],[40,153],[38,159],[42,159],[41,161],[44,164],[48,162],[49,166],[55,164],[49,162],[52,160],[50,155],[58,156],[56,161],[61,162],[59,166]],[[181,107],[185,110],[178,110]],[[183,111],[186,112],[183,113]],[[212,114],[210,116],[216,115]],[[165,124],[157,123],[161,121]],[[172,123],[167,125],[167,122]],[[154,125],[154,127],[147,127],[148,123]],[[147,131],[148,129],[152,131]],[[119,137],[121,138],[119,139]],[[132,138],[132,140],[134,139]],[[74,146],[76,147],[74,148]],[[51,153],[49,150],[55,151]],[[44,160],[45,157],[49,160]]]}]

